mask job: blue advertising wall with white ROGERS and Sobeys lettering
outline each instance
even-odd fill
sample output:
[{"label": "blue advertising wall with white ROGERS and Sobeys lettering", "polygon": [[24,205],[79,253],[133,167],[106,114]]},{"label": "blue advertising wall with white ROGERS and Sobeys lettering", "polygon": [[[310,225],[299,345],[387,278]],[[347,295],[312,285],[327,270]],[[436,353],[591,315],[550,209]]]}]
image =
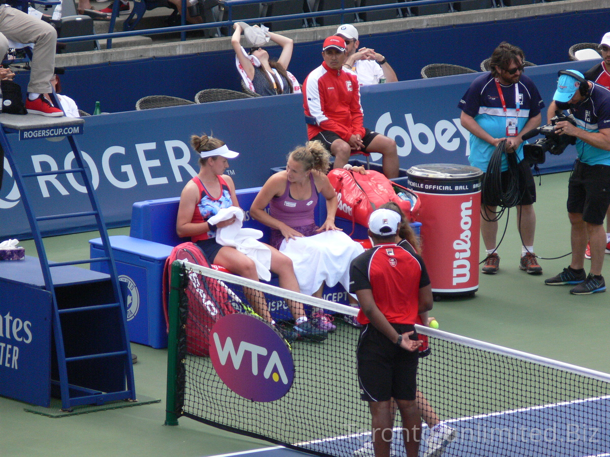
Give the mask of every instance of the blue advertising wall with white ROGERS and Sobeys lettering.
[{"label": "blue advertising wall with white ROGERS and Sobeys lettering", "polygon": [[[557,71],[586,70],[592,62],[570,62],[528,68],[548,104]],[[397,141],[401,168],[431,163],[468,163],[468,134],[456,107],[477,74],[381,84],[362,89],[365,126]],[[543,115],[545,123],[546,115]],[[76,137],[87,157],[93,184],[109,226],[129,225],[135,201],[178,196],[198,170],[192,134],[212,133],[241,154],[227,170],[238,189],[258,187],[271,167],[285,165],[285,156],[306,142],[300,94],[224,101],[182,107],[114,113],[85,118],[84,134]],[[14,134],[13,134],[14,135]],[[66,140],[10,140],[23,173],[65,168],[71,149]],[[379,162],[379,154],[371,156]],[[573,146],[561,156],[548,156],[545,172],[569,170]],[[4,163],[0,190],[0,239],[29,236],[23,205]],[[30,179],[30,195],[40,214],[87,211],[82,185],[71,175]],[[82,231],[84,220],[56,220],[43,232]]]}]

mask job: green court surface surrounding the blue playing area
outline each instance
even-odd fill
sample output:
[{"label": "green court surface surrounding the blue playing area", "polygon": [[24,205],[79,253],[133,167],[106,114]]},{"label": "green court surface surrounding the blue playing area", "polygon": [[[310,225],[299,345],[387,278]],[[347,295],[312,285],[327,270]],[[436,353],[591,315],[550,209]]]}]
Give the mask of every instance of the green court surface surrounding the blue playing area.
[{"label": "green court surface surrounding the blue playing area", "polygon": [[[542,185],[537,186],[535,248],[540,257],[558,257],[570,251],[565,211],[568,177],[569,173],[545,175]],[[498,249],[500,272],[480,275],[474,297],[435,302],[431,315],[444,331],[610,372],[610,360],[603,355],[603,348],[610,345],[606,328],[610,293],[576,296],[570,295],[569,286],[545,286],[544,279],[561,272],[569,264],[569,256],[540,259],[544,268],[540,276],[519,270],[515,217],[516,212],[511,211],[506,236]],[[498,239],[503,228],[504,219]],[[110,230],[110,235],[128,233],[128,228]],[[88,232],[48,239],[48,257],[52,261],[88,257],[88,240],[96,237],[95,232]],[[26,247],[26,254],[35,255],[33,242],[21,245]],[[589,261],[585,264],[588,268]],[[610,255],[606,256],[604,274],[610,281]],[[137,394],[161,398],[160,403],[51,419],[24,411],[24,403],[0,397],[0,455],[197,457],[269,446],[185,418],[178,426],[164,426],[167,350],[132,344],[132,351],[138,356],[134,365]],[[293,411],[291,417],[276,420],[300,422],[306,414]]]}]

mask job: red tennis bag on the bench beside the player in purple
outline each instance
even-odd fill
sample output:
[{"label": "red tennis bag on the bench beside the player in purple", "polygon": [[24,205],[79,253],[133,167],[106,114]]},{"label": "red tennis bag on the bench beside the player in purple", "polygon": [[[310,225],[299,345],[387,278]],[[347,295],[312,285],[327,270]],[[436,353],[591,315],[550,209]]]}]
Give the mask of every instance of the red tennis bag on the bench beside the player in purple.
[{"label": "red tennis bag on the bench beside the player in purple", "polygon": [[390,181],[378,171],[367,170],[366,175],[335,168],[328,179],[337,193],[337,216],[368,227],[371,212],[384,203],[393,201],[403,210],[407,220],[415,221],[420,200],[411,190]]}]

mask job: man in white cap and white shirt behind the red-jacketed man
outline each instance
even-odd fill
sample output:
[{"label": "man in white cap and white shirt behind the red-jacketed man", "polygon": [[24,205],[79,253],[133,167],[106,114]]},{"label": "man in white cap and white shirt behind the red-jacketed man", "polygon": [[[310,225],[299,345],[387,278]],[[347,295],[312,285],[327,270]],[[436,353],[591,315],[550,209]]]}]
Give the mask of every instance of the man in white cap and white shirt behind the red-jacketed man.
[{"label": "man in white cap and white shirt behind the red-jacketed man", "polygon": [[386,57],[375,49],[359,48],[358,31],[351,24],[339,26],[337,37],[345,40],[347,60],[343,64],[348,71],[353,71],[360,85],[379,84],[380,82],[397,82],[398,77]]}]

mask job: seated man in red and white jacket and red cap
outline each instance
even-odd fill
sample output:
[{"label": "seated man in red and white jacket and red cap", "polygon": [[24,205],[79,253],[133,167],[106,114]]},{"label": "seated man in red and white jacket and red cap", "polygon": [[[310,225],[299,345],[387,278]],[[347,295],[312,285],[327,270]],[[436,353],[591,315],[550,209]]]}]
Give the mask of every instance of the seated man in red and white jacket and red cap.
[{"label": "seated man in red and white jacket and red cap", "polygon": [[362,106],[356,75],[343,71],[345,40],[328,37],[322,47],[324,62],[303,83],[307,137],[320,140],[343,168],[352,151],[379,153],[387,178],[398,176],[396,142],[362,126]]}]

